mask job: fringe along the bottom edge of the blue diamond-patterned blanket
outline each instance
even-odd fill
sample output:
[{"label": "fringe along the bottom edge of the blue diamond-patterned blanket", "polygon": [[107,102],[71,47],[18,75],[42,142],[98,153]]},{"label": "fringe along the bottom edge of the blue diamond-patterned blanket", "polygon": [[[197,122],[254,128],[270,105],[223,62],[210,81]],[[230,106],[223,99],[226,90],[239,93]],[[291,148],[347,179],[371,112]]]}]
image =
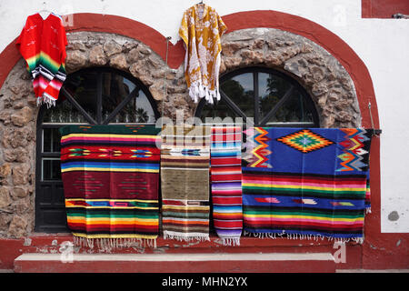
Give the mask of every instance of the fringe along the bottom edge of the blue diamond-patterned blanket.
[{"label": "fringe along the bottom edge of the blue diamond-patterned blanket", "polygon": [[333,236],[322,236],[322,235],[300,235],[300,234],[288,234],[288,233],[281,233],[281,234],[271,234],[271,233],[251,233],[244,230],[244,236],[254,236],[258,238],[277,238],[279,237],[286,237],[287,239],[308,239],[314,241],[324,240],[325,238],[329,241],[334,241],[334,243],[347,243],[353,240],[356,244],[364,244],[364,237],[333,237]]}]

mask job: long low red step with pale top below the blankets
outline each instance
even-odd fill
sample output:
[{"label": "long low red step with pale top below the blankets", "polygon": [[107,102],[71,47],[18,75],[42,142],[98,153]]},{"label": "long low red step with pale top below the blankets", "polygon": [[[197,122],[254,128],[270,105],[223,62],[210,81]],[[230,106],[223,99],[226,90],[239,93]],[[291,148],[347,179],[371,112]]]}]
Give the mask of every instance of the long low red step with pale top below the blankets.
[{"label": "long low red step with pale top below the blankets", "polygon": [[22,273],[234,273],[334,272],[330,253],[268,254],[23,254]]}]

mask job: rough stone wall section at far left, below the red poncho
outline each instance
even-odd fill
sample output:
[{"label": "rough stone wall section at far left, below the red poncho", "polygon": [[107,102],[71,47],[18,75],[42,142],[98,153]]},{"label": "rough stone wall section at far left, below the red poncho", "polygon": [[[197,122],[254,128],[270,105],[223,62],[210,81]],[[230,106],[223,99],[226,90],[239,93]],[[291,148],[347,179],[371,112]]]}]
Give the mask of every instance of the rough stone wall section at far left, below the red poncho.
[{"label": "rough stone wall section at far left, below the red poncho", "polygon": [[20,60],[0,90],[0,236],[25,236],[34,229],[37,113]]}]

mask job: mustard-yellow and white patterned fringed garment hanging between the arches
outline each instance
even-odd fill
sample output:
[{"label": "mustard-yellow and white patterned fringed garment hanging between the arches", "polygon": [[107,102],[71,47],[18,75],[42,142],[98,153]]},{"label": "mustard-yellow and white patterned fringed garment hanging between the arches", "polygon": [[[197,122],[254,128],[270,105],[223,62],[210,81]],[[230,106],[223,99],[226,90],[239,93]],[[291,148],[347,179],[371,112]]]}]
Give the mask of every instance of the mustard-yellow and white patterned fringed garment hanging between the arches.
[{"label": "mustard-yellow and white patterned fringed garment hanging between the arches", "polygon": [[197,4],[185,11],[179,35],[185,43],[185,79],[189,95],[213,104],[220,100],[221,36],[227,27],[214,8]]}]

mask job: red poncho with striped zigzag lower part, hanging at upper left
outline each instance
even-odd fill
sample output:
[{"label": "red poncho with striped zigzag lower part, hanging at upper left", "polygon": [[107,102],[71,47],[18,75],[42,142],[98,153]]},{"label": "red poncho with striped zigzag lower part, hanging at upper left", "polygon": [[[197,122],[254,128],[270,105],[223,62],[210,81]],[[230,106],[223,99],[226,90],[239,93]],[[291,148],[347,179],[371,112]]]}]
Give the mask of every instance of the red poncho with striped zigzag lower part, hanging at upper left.
[{"label": "red poncho with striped zigzag lower part, hanging at upper left", "polygon": [[55,105],[66,77],[65,28],[60,16],[51,13],[27,17],[16,45],[33,77],[37,105]]}]

